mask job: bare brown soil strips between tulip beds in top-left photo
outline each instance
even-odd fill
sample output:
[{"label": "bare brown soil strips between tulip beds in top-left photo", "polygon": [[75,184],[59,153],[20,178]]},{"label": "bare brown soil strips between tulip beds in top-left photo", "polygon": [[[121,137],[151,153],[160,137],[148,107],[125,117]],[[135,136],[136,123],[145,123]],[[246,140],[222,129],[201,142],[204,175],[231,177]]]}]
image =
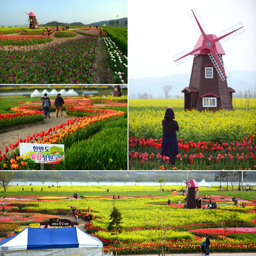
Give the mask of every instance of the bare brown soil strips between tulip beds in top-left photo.
[{"label": "bare brown soil strips between tulip beds in top-left photo", "polygon": [[[20,33],[9,34],[9,35],[20,35]],[[42,49],[55,43],[61,43],[63,41],[70,40],[70,38],[57,38],[55,33],[52,34],[53,41],[47,44],[35,44],[29,46],[17,46],[17,45],[6,45],[0,47],[1,49],[18,50],[18,49]],[[84,37],[84,35],[77,34],[76,37]],[[93,84],[114,84],[113,70],[108,65],[108,55],[105,46],[102,41],[102,32],[99,32],[98,36],[98,47],[96,48],[96,61],[94,64],[96,71],[93,74]]]}]

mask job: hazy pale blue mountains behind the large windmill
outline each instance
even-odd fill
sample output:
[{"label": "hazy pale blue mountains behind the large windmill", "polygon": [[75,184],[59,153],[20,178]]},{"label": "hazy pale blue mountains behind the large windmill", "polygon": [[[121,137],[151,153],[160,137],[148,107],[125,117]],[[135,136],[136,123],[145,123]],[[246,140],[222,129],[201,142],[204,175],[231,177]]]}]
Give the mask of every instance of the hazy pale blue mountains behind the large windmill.
[{"label": "hazy pale blue mountains behind the large windmill", "polygon": [[[243,94],[250,89],[253,97],[256,96],[256,71],[234,70],[230,71],[231,77],[227,79],[228,87],[236,91],[236,97],[239,92]],[[177,74],[159,78],[129,79],[129,99],[138,98],[138,93],[151,94],[153,98],[165,98],[163,86],[172,85],[171,97],[184,97],[181,92],[189,86],[190,74]]]}]

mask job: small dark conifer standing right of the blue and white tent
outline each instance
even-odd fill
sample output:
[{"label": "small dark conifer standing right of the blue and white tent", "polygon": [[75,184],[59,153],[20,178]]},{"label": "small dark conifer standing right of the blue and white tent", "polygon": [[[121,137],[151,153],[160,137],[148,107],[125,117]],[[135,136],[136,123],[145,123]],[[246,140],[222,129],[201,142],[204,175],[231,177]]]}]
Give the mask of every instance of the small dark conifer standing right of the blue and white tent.
[{"label": "small dark conifer standing right of the blue and white tent", "polygon": [[[111,212],[111,215],[109,215],[110,217],[110,222],[108,224],[107,230],[111,232],[111,235],[115,235],[116,234],[116,241],[115,244],[113,246],[113,248],[116,246],[116,243],[121,244],[121,242],[118,239],[117,233],[122,233],[122,214],[121,212],[119,212],[119,209],[117,209],[115,207],[115,205],[113,206],[113,210]],[[122,246],[122,244],[121,244]]]}]

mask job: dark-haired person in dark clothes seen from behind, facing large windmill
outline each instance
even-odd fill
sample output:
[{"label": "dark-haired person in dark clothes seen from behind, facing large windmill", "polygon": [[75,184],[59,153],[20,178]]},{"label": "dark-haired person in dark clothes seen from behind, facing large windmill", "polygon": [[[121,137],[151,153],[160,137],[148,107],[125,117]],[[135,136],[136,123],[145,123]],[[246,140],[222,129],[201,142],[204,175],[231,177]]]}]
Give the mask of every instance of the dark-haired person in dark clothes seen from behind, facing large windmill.
[{"label": "dark-haired person in dark clothes seen from behind, facing large windmill", "polygon": [[175,156],[179,154],[176,131],[179,131],[179,125],[174,120],[175,115],[172,107],[166,109],[163,126],[163,140],[161,146],[162,162],[166,157],[169,157],[169,162],[174,165]]}]

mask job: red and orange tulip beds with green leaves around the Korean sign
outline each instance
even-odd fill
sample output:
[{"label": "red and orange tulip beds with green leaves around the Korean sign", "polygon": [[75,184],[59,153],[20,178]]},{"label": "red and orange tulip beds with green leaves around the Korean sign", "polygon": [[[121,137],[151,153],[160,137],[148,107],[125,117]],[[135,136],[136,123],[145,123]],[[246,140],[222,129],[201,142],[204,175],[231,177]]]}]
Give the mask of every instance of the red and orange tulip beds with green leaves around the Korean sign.
[{"label": "red and orange tulip beds with green leaves around the Korean sign", "polygon": [[[125,100],[119,97],[116,101],[111,101],[102,98],[90,100],[84,97],[64,97],[64,101],[66,114],[73,118],[61,125],[49,127],[47,131],[17,138],[15,144],[6,145],[4,152],[0,151],[0,170],[40,169],[40,164],[32,161],[29,163],[26,155],[20,155],[19,143],[64,144],[65,163],[56,162],[48,168],[127,169],[127,98]],[[95,106],[95,102],[101,102],[101,105]],[[10,108],[15,113],[0,115],[0,128],[44,119],[41,105],[17,102],[17,105],[20,104],[21,106],[12,105]],[[55,108],[51,107],[50,111],[55,111]]]}]

